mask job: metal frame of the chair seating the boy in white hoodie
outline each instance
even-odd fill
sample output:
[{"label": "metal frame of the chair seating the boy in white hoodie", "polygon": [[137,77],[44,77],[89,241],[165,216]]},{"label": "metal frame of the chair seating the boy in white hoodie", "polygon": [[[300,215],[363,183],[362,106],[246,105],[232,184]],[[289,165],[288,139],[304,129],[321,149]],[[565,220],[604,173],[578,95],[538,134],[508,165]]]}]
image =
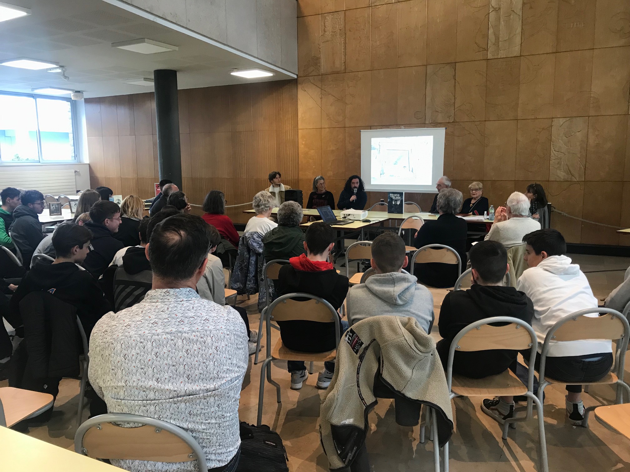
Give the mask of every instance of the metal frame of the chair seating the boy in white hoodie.
[{"label": "metal frame of the chair seating the boy in white hoodie", "polygon": [[[626,312],[626,310],[624,310],[624,312]],[[624,334],[619,340],[617,340],[617,349],[616,349],[616,352],[614,352],[614,354],[616,355],[616,358],[614,359],[613,367],[610,368],[610,372],[616,374],[617,381],[614,383],[611,383],[610,385],[617,386],[617,396],[615,400],[616,404],[623,403],[622,390],[619,388],[619,386],[622,386],[623,388],[625,388],[628,395],[630,395],[630,386],[628,386],[627,383],[624,382],[624,368],[625,368],[625,363],[626,363],[626,350],[628,347],[628,338],[630,337],[630,325],[628,324],[627,318],[624,315],[622,315],[622,313],[617,312],[617,310],[612,310],[612,308],[604,308],[602,306],[599,308],[586,308],[585,310],[580,310],[578,312],[571,313],[570,315],[566,315],[566,317],[556,322],[556,324],[554,324],[553,327],[551,327],[551,329],[547,332],[547,335],[545,336],[545,341],[542,344],[541,364],[539,366],[539,371],[538,371],[539,381],[540,381],[539,386],[538,386],[538,398],[541,400],[541,402],[542,402],[542,397],[544,395],[544,390],[548,385],[551,385],[552,383],[559,383],[559,384],[563,383],[563,381],[560,381],[560,380],[549,382],[545,379],[545,366],[547,362],[547,355],[549,354],[549,343],[552,340],[556,339],[554,334],[556,334],[558,329],[560,329],[560,327],[562,327],[564,323],[572,321],[572,320],[576,321],[578,320],[579,317],[588,315],[590,313],[607,313],[609,315],[612,315],[612,319],[619,318],[619,320],[621,321],[624,327]],[[588,339],[588,338],[585,338],[585,339]],[[614,372],[614,370],[616,372]],[[582,385],[597,385],[597,383],[599,382],[584,382],[582,383]],[[596,407],[584,408],[584,419],[582,421],[583,427],[588,427],[589,413],[592,412],[592,410],[595,410],[595,408],[599,406],[601,405],[597,405]]]}]

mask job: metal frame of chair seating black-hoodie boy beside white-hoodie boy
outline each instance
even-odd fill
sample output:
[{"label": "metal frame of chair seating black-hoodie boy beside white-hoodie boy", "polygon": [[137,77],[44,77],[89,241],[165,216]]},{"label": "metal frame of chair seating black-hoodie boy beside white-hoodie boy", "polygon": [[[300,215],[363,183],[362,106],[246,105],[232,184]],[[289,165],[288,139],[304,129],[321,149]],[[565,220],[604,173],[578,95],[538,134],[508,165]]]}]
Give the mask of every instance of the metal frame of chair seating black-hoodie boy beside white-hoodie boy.
[{"label": "metal frame of chair seating black-hoodie boy beside white-hoodie boy", "polygon": [[[462,395],[457,395],[457,393],[454,393],[452,391],[453,359],[455,356],[455,351],[460,349],[459,341],[468,332],[474,329],[481,329],[482,326],[490,325],[491,323],[512,323],[516,325],[515,329],[524,328],[525,330],[527,330],[527,332],[530,335],[531,342],[529,346],[530,346],[531,352],[530,352],[530,359],[529,359],[530,360],[529,370],[527,372],[527,392],[525,392],[525,396],[527,396],[527,413],[525,417],[511,418],[511,419],[505,420],[505,423],[503,424],[503,439],[507,439],[508,427],[510,427],[510,425],[513,425],[512,427],[516,427],[516,423],[527,421],[532,417],[532,410],[533,410],[532,406],[534,403],[536,403],[536,410],[537,410],[537,416],[538,416],[538,430],[539,430],[539,435],[540,435],[540,454],[541,454],[540,469],[542,472],[548,472],[549,466],[547,464],[547,443],[545,440],[542,400],[537,398],[536,395],[534,395],[534,361],[536,361],[537,337],[536,337],[536,332],[534,332],[534,329],[532,329],[532,327],[529,324],[525,323],[523,320],[519,320],[518,318],[513,318],[513,317],[491,317],[491,318],[485,318],[483,320],[479,320],[477,322],[471,323],[467,327],[462,329],[459,333],[457,333],[455,338],[450,343],[449,361],[447,362],[447,368],[446,368],[446,383],[449,388],[450,398],[452,399],[457,396],[462,396]],[[490,328],[494,328],[494,327],[490,326]],[[488,348],[491,349],[491,346],[488,346]],[[437,431],[436,429],[433,429],[432,436],[433,436],[434,430]],[[421,430],[420,430],[420,439],[421,439],[420,442],[424,442],[424,435],[425,434],[424,434],[424,426],[423,426],[421,427]],[[437,434],[435,434],[435,436],[437,436]],[[444,471],[449,472],[449,443],[448,442],[444,445]]]}]

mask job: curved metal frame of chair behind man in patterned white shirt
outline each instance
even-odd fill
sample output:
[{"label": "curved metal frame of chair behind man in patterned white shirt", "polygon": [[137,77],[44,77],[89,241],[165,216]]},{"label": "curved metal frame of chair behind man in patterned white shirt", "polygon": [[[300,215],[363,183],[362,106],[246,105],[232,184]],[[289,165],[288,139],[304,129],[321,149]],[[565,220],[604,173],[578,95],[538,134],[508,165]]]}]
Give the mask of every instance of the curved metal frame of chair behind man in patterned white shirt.
[{"label": "curved metal frame of chair behind man in patterned white shirt", "polygon": [[[169,433],[176,435],[181,441],[185,442],[190,449],[192,449],[193,454],[188,456],[190,459],[197,459],[198,469],[200,471],[208,470],[207,463],[205,461],[205,453],[199,443],[195,441],[195,438],[186,431],[181,429],[179,426],[171,424],[169,422],[158,420],[156,418],[149,418],[146,416],[140,415],[132,415],[130,413],[106,413],[105,415],[98,415],[93,418],[86,420],[83,424],[81,424],[77,428],[77,432],[74,434],[74,452],[77,454],[82,454],[83,456],[88,456],[88,452],[83,447],[83,438],[88,432],[89,429],[96,427],[101,429],[101,424],[103,423],[114,423],[114,422],[130,422],[130,423],[139,423],[141,425],[149,425],[154,426],[156,428],[156,433],[161,430],[168,431]],[[195,457],[191,457],[195,456]],[[97,459],[98,460],[98,459]],[[137,459],[142,460],[142,459]]]}]

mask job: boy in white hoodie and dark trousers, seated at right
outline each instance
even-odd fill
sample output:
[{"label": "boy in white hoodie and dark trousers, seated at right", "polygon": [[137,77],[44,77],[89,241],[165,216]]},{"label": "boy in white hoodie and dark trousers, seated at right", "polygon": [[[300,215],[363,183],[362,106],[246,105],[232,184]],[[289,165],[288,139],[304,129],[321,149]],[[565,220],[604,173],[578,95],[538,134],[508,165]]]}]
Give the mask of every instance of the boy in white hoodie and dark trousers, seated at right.
[{"label": "boy in white hoodie and dark trousers, seated at right", "polygon": [[[562,318],[584,310],[597,308],[597,298],[578,264],[564,256],[566,242],[558,230],[537,230],[525,235],[525,262],[529,269],[520,276],[517,290],[525,292],[534,303],[532,327],[538,337],[536,369],[539,367],[542,343],[547,332]],[[587,315],[597,317],[597,314]],[[528,359],[529,354],[524,355]],[[545,375],[565,382],[593,382],[603,378],[612,366],[612,342],[589,339],[577,341],[551,341]],[[581,385],[566,386],[566,413],[574,425],[583,420],[584,405],[581,401]],[[501,397],[501,402],[484,400],[489,410],[501,412],[500,403],[511,397]],[[490,405],[489,402],[498,403]],[[488,405],[486,405],[488,403]]]}]

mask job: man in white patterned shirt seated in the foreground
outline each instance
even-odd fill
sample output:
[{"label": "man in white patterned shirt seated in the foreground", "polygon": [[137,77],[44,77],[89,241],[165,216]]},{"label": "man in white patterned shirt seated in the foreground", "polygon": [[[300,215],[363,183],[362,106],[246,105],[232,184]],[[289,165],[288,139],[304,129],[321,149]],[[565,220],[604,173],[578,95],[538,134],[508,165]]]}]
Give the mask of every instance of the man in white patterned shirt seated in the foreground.
[{"label": "man in white patterned shirt seated in the foreground", "polygon": [[[170,216],[156,226],[146,247],[152,289],[137,305],[96,323],[89,381],[108,412],[178,425],[205,451],[210,470],[232,472],[241,443],[238,403],[248,338],[236,310],[195,291],[208,250],[209,227],[198,216]],[[196,461],[112,463],[134,472],[198,470]]]}]

